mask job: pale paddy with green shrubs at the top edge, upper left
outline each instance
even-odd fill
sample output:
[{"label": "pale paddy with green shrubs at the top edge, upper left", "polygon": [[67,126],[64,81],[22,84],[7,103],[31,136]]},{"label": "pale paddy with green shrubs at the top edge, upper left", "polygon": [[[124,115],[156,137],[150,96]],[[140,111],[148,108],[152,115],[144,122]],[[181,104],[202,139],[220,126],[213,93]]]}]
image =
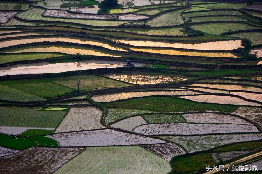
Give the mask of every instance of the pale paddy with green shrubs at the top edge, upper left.
[{"label": "pale paddy with green shrubs at the top edge, upper left", "polygon": [[55,0],[45,0],[41,2],[34,3],[35,6],[42,6],[47,9],[68,9],[70,6],[74,6],[79,4],[79,1],[68,1],[68,3],[64,3],[63,1],[55,1]]}]

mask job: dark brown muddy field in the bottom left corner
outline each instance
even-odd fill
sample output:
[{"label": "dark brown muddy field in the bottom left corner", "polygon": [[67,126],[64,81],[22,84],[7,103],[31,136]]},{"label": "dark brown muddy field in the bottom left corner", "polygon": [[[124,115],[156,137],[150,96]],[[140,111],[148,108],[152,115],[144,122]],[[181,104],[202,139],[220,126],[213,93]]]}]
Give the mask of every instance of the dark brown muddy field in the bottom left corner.
[{"label": "dark brown muddy field in the bottom left corner", "polygon": [[83,150],[84,148],[32,147],[1,157],[0,173],[51,174]]}]

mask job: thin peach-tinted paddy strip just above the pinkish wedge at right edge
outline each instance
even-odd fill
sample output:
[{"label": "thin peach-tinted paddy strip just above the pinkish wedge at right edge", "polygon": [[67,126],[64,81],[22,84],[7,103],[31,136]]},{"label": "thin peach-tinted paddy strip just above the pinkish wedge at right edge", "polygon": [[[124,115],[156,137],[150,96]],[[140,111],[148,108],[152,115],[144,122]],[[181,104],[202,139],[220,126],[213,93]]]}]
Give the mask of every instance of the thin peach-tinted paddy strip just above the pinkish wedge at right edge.
[{"label": "thin peach-tinted paddy strip just above the pinkish wedge at right edge", "polygon": [[207,88],[216,88],[216,89],[225,89],[225,90],[244,90],[244,91],[253,91],[253,92],[261,92],[261,88],[256,88],[252,86],[243,86],[239,84],[235,85],[223,85],[223,84],[193,84],[190,86],[201,86]]}]

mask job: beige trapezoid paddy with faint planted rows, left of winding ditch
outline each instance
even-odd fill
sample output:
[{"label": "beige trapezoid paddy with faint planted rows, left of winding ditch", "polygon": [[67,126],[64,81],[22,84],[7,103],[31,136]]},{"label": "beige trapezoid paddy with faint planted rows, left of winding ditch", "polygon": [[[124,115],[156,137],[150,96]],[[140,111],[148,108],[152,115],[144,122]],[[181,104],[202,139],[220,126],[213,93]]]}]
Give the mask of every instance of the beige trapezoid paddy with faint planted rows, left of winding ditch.
[{"label": "beige trapezoid paddy with faint planted rows, left of winding ditch", "polygon": [[55,133],[105,128],[100,123],[102,110],[95,107],[71,108]]}]

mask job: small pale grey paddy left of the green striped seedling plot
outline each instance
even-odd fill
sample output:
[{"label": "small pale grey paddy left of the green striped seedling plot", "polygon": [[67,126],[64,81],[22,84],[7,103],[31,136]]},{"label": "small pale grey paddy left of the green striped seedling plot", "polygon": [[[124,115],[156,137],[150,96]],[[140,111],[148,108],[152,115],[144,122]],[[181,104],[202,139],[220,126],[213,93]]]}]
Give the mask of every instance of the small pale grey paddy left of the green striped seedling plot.
[{"label": "small pale grey paddy left of the green striped seedling plot", "polygon": [[141,124],[146,124],[146,121],[141,116],[136,116],[136,117],[126,118],[124,120],[111,124],[110,126],[113,128],[119,128],[126,131],[133,131],[135,127]]}]

